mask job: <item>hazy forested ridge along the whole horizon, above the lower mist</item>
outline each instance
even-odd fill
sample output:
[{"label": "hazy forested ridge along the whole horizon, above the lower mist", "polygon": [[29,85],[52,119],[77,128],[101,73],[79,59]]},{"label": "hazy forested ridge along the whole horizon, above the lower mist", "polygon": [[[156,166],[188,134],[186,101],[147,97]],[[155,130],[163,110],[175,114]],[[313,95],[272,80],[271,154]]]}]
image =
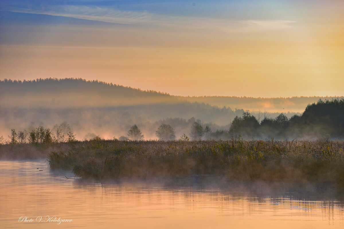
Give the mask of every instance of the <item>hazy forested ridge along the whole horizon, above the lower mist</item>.
[{"label": "hazy forested ridge along the whole horizon, above the lower mist", "polygon": [[[0,81],[0,105],[6,107],[112,107],[145,104],[171,104],[187,101],[264,112],[303,112],[308,104],[319,99],[340,97],[252,98],[235,96],[172,96],[155,91],[124,87],[83,79],[37,79],[33,81]],[[229,92],[230,93],[230,92]]]}]

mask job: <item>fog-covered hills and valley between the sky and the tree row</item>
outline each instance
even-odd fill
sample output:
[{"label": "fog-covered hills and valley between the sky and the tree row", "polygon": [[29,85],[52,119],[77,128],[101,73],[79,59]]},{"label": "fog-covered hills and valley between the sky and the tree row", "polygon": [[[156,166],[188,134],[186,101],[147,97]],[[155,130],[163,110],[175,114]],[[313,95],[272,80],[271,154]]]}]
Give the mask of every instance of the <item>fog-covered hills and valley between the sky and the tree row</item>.
[{"label": "fog-covered hills and valley between the sky and the tree row", "polygon": [[0,82],[0,136],[7,137],[11,129],[30,131],[40,125],[52,129],[66,121],[78,140],[92,134],[126,136],[133,124],[144,139],[157,139],[155,131],[161,123],[173,126],[178,139],[189,135],[195,121],[212,131],[229,130],[234,118],[246,110],[259,121],[281,112],[291,118],[301,114],[294,108],[303,111],[319,98],[180,97],[82,79],[4,80]]}]

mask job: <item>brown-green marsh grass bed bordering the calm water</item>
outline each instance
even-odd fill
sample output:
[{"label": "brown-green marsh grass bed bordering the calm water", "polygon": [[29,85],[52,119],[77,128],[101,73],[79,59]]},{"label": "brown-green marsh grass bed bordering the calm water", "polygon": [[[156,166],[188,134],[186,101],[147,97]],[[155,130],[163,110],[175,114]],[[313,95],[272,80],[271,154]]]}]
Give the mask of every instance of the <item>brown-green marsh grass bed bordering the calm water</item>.
[{"label": "brown-green marsh grass bed bordering the calm water", "polygon": [[317,182],[344,186],[344,142],[112,141],[76,142],[48,155],[52,169],[83,178],[224,175],[240,181]]}]

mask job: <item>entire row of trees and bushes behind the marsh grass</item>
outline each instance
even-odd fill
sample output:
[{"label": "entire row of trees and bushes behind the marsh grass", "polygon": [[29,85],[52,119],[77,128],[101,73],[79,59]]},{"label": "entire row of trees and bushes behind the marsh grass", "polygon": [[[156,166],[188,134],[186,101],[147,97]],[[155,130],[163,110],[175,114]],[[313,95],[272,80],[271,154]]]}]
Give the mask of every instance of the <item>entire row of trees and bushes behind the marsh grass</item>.
[{"label": "entire row of trees and bushes behind the marsh grass", "polygon": [[[230,139],[235,136],[244,139],[251,138],[317,138],[329,135],[331,138],[344,138],[344,99],[338,100],[319,100],[318,103],[310,104],[306,107],[302,115],[294,115],[290,119],[281,113],[275,119],[264,117],[259,123],[257,118],[248,111],[243,112],[241,117],[236,116],[230,125],[229,130],[216,130],[202,125],[201,120],[194,118],[188,120],[192,122],[190,132],[184,133],[179,140],[208,140],[208,139]],[[186,123],[186,122],[185,122]],[[144,140],[144,135],[136,124],[128,130],[128,136],[120,136],[121,141],[140,141]],[[155,135],[160,141],[176,140],[175,130],[170,124],[162,123]],[[190,138],[189,138],[190,136]],[[75,134],[68,123],[63,122],[60,125],[54,125],[53,129],[39,126],[36,129],[27,132],[26,130],[16,132],[11,130],[10,141],[5,143],[60,143],[75,141]],[[99,136],[94,135],[93,140],[100,140]],[[115,139],[115,138],[114,138]],[[0,143],[4,139],[0,137]]]}]

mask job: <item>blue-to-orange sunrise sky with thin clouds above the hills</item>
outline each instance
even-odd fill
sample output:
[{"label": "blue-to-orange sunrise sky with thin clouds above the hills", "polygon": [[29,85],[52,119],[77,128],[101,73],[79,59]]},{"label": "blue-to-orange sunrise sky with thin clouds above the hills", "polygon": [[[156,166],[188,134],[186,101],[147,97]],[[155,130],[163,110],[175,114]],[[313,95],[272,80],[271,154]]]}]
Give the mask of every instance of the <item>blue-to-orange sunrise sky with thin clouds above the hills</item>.
[{"label": "blue-to-orange sunrise sky with thin clouds above the hills", "polygon": [[343,96],[343,12],[343,0],[1,0],[0,80]]}]

